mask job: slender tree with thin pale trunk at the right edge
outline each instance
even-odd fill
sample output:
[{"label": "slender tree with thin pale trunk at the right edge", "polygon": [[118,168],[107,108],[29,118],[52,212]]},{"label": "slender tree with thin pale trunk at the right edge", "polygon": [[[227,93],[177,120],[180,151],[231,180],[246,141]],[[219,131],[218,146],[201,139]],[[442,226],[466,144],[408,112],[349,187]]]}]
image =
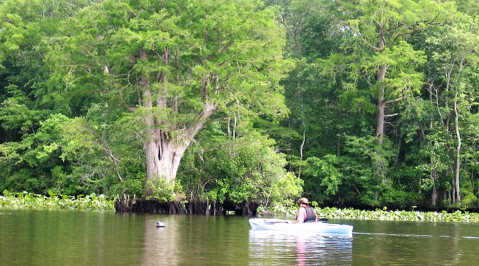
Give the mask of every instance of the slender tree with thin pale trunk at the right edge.
[{"label": "slender tree with thin pale trunk at the right edge", "polygon": [[[462,157],[465,139],[463,135],[471,136],[472,131],[468,128],[475,128],[475,123],[472,122],[474,119],[471,118],[475,112],[472,106],[477,101],[473,85],[479,62],[479,34],[476,25],[477,18],[458,16],[454,23],[431,30],[426,40],[430,65],[435,66],[428,77],[429,93],[438,106],[434,124],[440,127],[436,131],[444,131],[446,135],[453,136],[446,142],[445,150],[441,153],[455,155],[454,163],[451,162],[449,168],[454,178],[448,181],[452,184],[454,204],[461,203],[461,172],[464,172],[461,163],[464,161]],[[433,188],[435,189],[435,186]],[[434,191],[433,199],[436,197]]]}]

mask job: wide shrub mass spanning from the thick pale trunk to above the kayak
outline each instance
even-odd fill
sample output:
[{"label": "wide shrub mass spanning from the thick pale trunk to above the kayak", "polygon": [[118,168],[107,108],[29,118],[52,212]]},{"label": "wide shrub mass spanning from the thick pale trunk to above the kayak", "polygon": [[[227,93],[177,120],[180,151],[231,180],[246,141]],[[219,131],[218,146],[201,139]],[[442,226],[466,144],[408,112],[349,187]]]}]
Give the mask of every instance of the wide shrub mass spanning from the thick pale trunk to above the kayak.
[{"label": "wide shrub mass spanning from the thick pale trunk to above the kayak", "polygon": [[179,173],[191,193],[188,200],[292,204],[302,180],[285,170],[285,157],[271,139],[238,122],[235,137],[228,137],[228,125],[213,123],[199,136],[204,146],[189,150]]}]

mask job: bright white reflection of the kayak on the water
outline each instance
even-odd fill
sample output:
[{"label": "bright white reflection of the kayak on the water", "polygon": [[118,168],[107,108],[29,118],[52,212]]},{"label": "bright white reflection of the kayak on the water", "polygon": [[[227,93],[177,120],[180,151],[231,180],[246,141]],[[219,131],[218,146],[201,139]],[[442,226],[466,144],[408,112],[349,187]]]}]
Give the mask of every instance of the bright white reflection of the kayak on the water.
[{"label": "bright white reflection of the kayak on the water", "polygon": [[249,231],[250,265],[352,265],[353,238]]}]

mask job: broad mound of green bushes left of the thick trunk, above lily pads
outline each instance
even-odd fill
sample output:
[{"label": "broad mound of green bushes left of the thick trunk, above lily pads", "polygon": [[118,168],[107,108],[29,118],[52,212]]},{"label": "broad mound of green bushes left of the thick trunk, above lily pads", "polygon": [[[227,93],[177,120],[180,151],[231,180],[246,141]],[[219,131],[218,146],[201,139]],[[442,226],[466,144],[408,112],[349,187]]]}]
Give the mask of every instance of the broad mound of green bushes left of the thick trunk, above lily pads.
[{"label": "broad mound of green bushes left of the thick trunk, above lily pads", "polygon": [[[121,181],[122,174],[120,158],[115,157],[116,151],[107,142],[113,136],[102,138],[84,119],[52,115],[35,134],[25,135],[21,142],[0,144],[2,163],[14,166],[1,173],[4,189],[35,193],[53,189],[67,195],[110,193],[110,187]],[[139,185],[134,180],[128,180],[122,192],[138,194]],[[119,194],[119,187],[116,185],[111,193]]]}]

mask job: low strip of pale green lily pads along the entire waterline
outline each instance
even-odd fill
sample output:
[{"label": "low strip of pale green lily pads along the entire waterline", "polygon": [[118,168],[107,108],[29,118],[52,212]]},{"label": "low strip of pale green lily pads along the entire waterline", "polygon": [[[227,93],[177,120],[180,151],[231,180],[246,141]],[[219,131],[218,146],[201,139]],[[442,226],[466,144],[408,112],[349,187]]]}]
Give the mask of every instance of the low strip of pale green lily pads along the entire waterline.
[{"label": "low strip of pale green lily pads along the entire waterline", "polygon": [[[0,196],[0,209],[35,209],[35,210],[99,210],[115,211],[115,200],[103,194],[95,193],[85,196],[51,195],[50,197],[28,192],[4,191]],[[479,223],[479,213],[457,210],[455,212],[422,212],[405,210],[387,210],[387,207],[376,210],[358,210],[353,208],[316,207],[318,217],[338,220],[380,220],[380,221],[412,221],[412,222],[452,222]],[[259,207],[258,216],[294,217],[296,207]]]}]

